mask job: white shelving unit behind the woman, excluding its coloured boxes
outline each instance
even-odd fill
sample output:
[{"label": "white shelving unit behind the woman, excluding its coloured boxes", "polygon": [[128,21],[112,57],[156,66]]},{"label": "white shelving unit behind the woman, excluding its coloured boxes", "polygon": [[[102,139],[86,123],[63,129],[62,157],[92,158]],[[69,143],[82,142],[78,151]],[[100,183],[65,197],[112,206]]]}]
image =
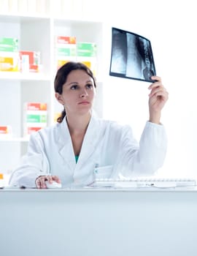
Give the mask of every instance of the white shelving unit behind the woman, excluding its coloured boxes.
[{"label": "white shelving unit behind the woman, excluding its coloured boxes", "polygon": [[[52,2],[52,1],[50,1]],[[51,6],[52,8],[53,6]],[[50,12],[49,12],[50,13]],[[57,15],[55,15],[57,16]],[[17,37],[20,50],[41,53],[42,72],[23,74],[0,72],[0,125],[12,127],[12,138],[0,138],[0,172],[11,172],[23,154],[28,140],[23,138],[23,103],[47,102],[47,125],[54,123],[54,113],[62,110],[54,97],[56,35],[74,36],[78,41],[96,42],[97,97],[95,109],[102,116],[102,45],[103,23],[100,21],[57,18],[53,15],[0,14],[0,37]]]}]

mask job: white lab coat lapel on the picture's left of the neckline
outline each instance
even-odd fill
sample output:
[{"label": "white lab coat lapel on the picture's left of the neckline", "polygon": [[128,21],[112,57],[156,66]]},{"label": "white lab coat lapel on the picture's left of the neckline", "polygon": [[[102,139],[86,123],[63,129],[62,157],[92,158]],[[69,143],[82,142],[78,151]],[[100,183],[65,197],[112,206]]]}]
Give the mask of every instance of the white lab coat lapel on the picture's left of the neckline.
[{"label": "white lab coat lapel on the picture's left of the neckline", "polygon": [[74,151],[72,146],[72,140],[69,133],[69,128],[66,123],[66,118],[63,119],[58,127],[58,151],[63,160],[69,165],[69,168],[74,170],[76,166]]}]

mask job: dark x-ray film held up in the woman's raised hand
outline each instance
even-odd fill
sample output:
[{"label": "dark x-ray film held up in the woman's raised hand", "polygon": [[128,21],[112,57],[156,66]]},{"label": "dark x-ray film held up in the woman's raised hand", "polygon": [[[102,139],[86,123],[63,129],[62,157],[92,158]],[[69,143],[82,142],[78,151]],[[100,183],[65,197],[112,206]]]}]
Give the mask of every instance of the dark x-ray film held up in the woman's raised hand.
[{"label": "dark x-ray film held up in the woman's raised hand", "polygon": [[156,75],[150,40],[122,29],[112,28],[109,75],[152,82]]}]

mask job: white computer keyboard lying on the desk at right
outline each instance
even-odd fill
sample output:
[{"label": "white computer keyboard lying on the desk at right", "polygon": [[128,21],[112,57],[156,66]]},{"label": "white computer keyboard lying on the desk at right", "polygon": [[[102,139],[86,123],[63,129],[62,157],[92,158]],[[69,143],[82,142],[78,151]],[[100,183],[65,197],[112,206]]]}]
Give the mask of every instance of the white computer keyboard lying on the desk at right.
[{"label": "white computer keyboard lying on the desk at right", "polygon": [[96,178],[94,183],[96,187],[195,187],[194,178]]}]

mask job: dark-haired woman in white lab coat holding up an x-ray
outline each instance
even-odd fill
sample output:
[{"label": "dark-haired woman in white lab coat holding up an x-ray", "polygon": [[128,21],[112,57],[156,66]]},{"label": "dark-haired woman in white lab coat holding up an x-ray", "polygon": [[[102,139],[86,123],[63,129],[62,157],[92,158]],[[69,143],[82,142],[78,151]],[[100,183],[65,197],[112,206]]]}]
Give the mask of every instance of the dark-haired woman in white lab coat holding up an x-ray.
[{"label": "dark-haired woman in white lab coat holding up an x-ray", "polygon": [[82,63],[69,62],[55,76],[55,97],[63,112],[53,127],[34,132],[27,154],[9,184],[46,188],[46,181],[63,187],[84,186],[101,178],[152,176],[166,156],[166,133],[160,123],[168,99],[161,78],[148,89],[150,119],[137,143],[131,127],[102,120],[93,113],[96,80]]}]

